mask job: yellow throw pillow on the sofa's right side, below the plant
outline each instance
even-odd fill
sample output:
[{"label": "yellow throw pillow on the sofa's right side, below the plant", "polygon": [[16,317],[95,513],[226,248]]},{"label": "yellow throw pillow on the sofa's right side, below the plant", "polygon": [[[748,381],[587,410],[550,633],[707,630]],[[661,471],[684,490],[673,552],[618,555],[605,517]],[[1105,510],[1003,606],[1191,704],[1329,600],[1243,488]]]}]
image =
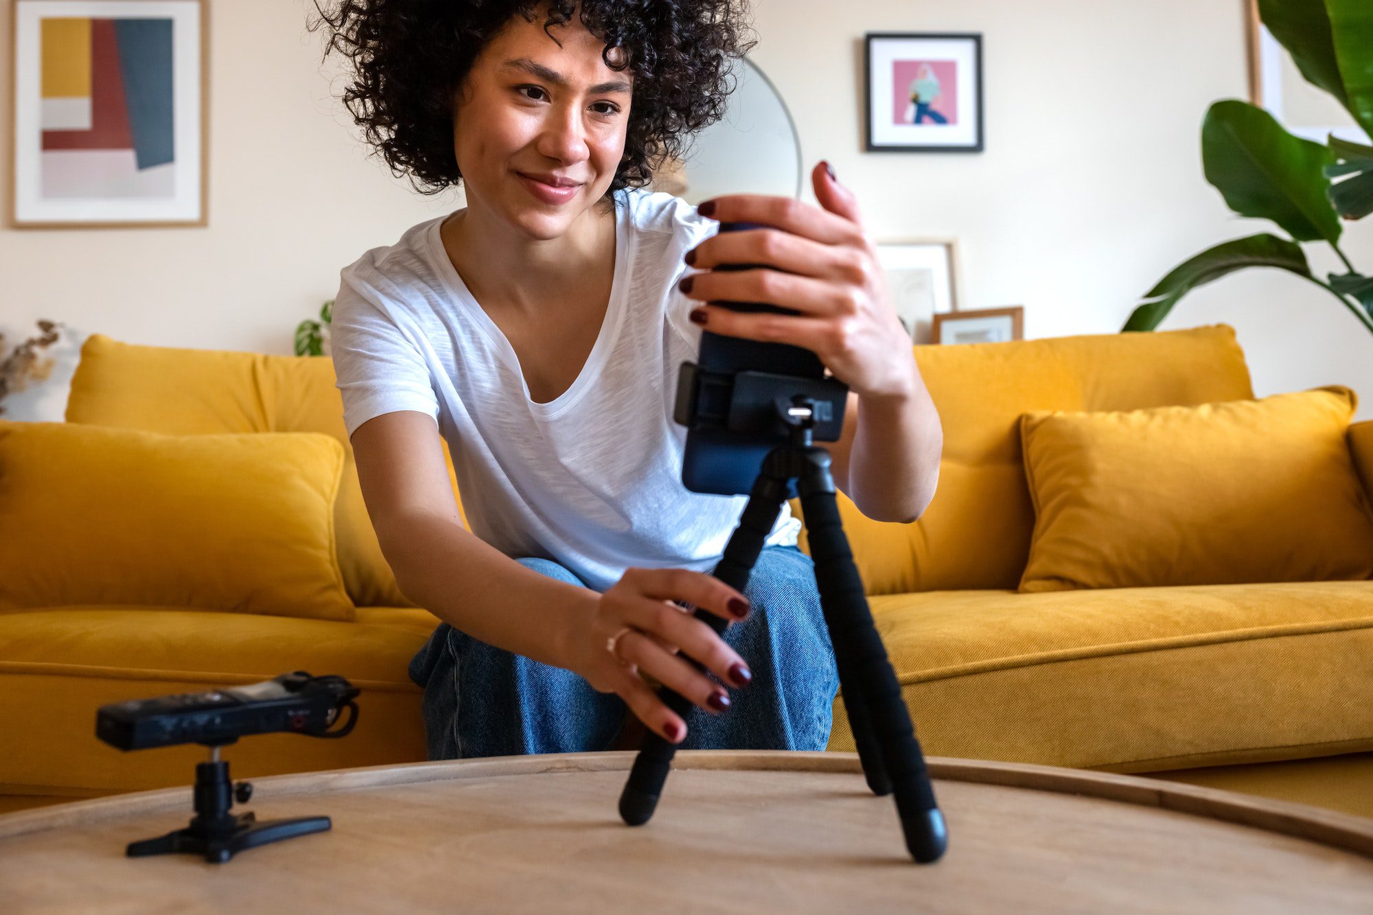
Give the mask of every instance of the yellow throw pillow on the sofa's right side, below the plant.
[{"label": "yellow throw pillow on the sofa's right side, below the plant", "polygon": [[1035,508],[1019,591],[1373,577],[1346,441],[1358,397],[1020,418]]}]

